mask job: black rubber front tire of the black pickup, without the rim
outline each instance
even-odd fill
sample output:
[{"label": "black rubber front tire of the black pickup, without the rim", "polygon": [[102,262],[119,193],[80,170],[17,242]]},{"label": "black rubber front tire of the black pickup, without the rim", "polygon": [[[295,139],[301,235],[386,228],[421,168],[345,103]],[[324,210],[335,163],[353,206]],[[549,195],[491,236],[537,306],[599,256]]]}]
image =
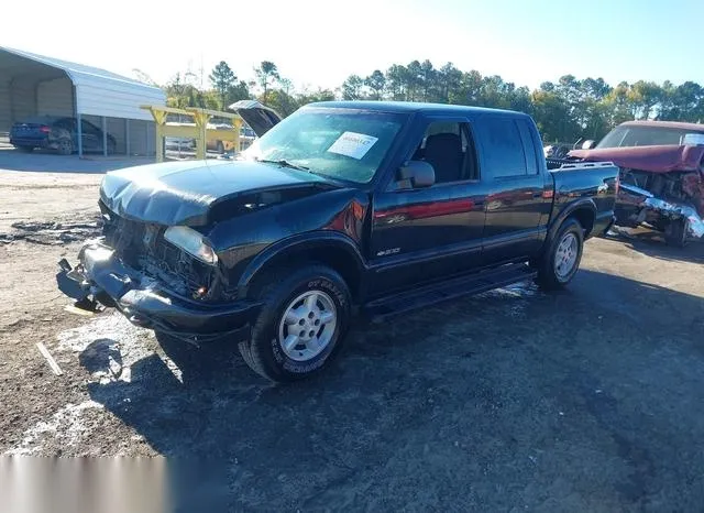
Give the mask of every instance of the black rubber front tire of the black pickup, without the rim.
[{"label": "black rubber front tire of the black pickup, without the rim", "polygon": [[[352,299],[342,276],[324,265],[308,264],[294,271],[272,273],[266,283],[255,284],[252,288],[264,306],[252,328],[251,340],[239,345],[248,365],[274,382],[297,381],[321,371],[340,349],[350,325]],[[284,350],[279,326],[289,304],[309,291],[322,292],[332,301],[337,323],[332,338],[319,354],[296,361]]]}]

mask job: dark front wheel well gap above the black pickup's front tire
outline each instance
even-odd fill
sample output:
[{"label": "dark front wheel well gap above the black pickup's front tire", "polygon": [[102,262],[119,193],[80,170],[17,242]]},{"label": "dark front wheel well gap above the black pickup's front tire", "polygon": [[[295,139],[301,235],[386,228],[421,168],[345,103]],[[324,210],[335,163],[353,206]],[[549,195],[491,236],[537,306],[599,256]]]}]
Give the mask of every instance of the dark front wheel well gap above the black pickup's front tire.
[{"label": "dark front wheel well gap above the black pickup's front tire", "polygon": [[254,283],[260,283],[267,275],[276,273],[278,270],[309,263],[320,263],[340,273],[354,299],[359,298],[361,292],[362,270],[358,260],[346,250],[337,247],[314,247],[300,248],[284,251],[272,258],[260,269],[252,279]]}]

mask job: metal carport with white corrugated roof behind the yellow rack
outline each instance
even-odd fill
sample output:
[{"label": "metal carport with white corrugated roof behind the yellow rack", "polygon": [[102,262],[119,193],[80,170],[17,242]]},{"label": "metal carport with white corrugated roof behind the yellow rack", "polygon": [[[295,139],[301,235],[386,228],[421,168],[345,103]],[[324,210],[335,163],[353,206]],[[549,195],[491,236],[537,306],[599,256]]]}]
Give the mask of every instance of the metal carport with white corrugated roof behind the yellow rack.
[{"label": "metal carport with white corrugated roof behind the yellow rack", "polygon": [[[0,46],[0,134],[34,116],[90,120],[118,140],[118,153],[154,154],[154,122],[141,105],[165,105],[162,89],[105,69]],[[107,155],[103,139],[102,152]]]}]

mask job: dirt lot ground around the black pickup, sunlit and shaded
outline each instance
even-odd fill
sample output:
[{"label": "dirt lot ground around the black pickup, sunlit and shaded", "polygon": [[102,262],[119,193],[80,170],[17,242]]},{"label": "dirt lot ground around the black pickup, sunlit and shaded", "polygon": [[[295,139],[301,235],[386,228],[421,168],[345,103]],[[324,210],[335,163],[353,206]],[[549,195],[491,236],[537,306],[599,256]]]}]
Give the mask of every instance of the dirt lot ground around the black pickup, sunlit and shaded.
[{"label": "dirt lot ground around the black pickup, sunlit and shaded", "polygon": [[592,240],[569,292],[359,326],[324,375],[272,386],[227,343],[64,309],[100,177],[0,172],[0,454],[206,458],[206,510],[701,511],[701,244]]}]

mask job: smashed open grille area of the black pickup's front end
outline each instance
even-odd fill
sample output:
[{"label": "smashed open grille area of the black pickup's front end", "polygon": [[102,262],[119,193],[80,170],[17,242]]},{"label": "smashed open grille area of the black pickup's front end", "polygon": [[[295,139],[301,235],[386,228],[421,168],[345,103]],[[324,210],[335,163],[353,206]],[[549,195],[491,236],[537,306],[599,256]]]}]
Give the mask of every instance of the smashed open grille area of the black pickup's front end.
[{"label": "smashed open grille area of the black pickup's front end", "polygon": [[184,297],[213,286],[213,269],[164,239],[165,226],[133,221],[100,205],[106,242],[127,265],[153,277]]}]

